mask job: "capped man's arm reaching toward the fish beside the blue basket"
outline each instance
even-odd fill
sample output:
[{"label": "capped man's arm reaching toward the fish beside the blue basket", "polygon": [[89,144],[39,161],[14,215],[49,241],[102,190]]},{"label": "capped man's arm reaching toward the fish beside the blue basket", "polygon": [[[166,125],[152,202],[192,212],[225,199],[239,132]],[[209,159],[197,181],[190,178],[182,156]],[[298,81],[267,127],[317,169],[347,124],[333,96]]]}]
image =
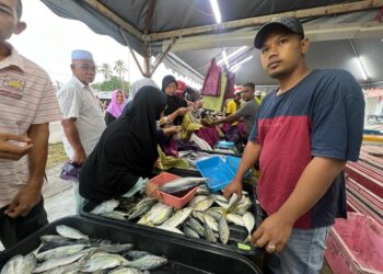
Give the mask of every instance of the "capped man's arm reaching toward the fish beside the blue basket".
[{"label": "capped man's arm reaching toward the fish beside the blue basket", "polygon": [[247,141],[236,174],[233,181],[231,181],[231,183],[223,191],[223,195],[227,198],[229,198],[233,193],[236,193],[240,198],[242,197],[242,179],[246,174],[247,170],[254,167],[255,162],[258,160],[260,150],[260,145],[253,140]]}]

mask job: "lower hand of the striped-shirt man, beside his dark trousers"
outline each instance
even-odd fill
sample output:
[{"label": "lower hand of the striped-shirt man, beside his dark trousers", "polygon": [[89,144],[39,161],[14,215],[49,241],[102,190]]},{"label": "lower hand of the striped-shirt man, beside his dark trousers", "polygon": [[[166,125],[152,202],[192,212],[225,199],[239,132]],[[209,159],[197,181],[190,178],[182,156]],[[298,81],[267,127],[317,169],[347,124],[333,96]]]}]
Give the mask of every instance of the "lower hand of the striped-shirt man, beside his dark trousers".
[{"label": "lower hand of the striped-shirt man, beside his dark trousers", "polygon": [[42,192],[39,189],[25,185],[20,190],[4,213],[11,218],[16,218],[19,216],[25,217],[40,199]]}]

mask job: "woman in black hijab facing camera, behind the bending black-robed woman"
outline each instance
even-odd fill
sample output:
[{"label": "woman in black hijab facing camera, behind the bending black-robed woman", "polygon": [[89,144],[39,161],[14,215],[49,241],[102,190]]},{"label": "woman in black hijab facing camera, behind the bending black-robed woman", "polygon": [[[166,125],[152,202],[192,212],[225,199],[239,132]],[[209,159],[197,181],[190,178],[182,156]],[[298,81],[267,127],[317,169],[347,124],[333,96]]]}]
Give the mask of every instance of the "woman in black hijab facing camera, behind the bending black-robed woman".
[{"label": "woman in black hijab facing camera, behind the bending black-robed woman", "polygon": [[162,79],[162,91],[167,98],[167,107],[164,112],[166,119],[174,125],[181,125],[183,116],[187,113],[187,102],[176,96],[177,80],[173,76]]}]

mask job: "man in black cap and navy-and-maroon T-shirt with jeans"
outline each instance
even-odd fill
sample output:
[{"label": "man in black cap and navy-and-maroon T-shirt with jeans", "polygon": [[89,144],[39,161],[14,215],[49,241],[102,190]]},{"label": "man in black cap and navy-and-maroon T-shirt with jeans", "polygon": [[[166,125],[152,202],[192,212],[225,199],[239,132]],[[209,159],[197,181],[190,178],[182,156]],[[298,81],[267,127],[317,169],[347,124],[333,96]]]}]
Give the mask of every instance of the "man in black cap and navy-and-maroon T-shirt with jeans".
[{"label": "man in black cap and navy-and-maroon T-shirt with jeans", "polygon": [[307,68],[309,41],[297,18],[274,19],[254,45],[280,87],[264,99],[224,195],[241,196],[242,178],[259,159],[257,196],[268,217],[252,241],[272,254],[275,273],[318,273],[328,230],[346,217],[343,170],[359,157],[363,93],[348,71]]}]

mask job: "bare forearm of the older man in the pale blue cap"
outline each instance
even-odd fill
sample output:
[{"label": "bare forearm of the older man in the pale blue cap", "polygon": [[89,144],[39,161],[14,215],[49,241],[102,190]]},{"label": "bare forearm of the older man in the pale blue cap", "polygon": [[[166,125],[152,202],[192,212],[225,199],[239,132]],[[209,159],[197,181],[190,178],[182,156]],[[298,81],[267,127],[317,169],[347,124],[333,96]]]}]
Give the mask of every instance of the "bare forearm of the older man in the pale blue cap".
[{"label": "bare forearm of the older man in the pale blue cap", "polygon": [[76,118],[62,119],[61,126],[63,128],[63,133],[66,134],[70,146],[73,148],[73,151],[74,151],[73,159],[71,160],[74,163],[81,165],[86,159],[86,153],[81,144],[79,130],[77,129],[74,122],[76,122]]}]

